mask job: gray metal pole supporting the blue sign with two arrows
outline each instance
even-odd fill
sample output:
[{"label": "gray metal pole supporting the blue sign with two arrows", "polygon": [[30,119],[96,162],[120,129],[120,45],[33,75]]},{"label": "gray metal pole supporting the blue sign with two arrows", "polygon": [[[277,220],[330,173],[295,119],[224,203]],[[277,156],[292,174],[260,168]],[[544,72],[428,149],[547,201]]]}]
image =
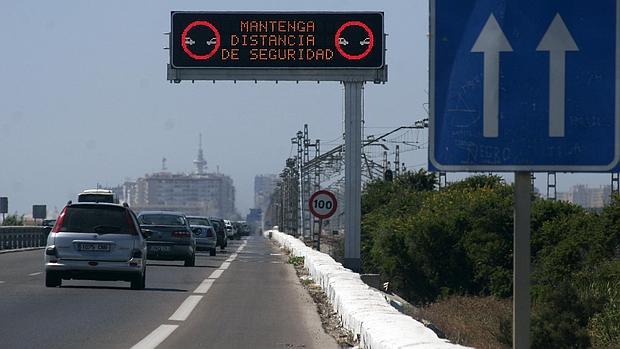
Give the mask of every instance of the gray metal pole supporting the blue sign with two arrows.
[{"label": "gray metal pole supporting the blue sign with two arrows", "polygon": [[512,347],[514,349],[530,347],[530,206],[530,173],[516,172],[512,297]]}]

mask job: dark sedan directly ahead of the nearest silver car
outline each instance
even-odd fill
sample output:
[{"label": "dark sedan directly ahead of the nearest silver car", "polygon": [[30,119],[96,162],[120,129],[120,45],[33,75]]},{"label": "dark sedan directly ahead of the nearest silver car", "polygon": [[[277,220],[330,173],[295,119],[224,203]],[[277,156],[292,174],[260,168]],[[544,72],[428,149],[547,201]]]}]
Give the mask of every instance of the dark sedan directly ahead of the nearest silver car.
[{"label": "dark sedan directly ahead of the nearest silver car", "polygon": [[149,235],[149,259],[181,260],[186,267],[196,265],[196,239],[183,213],[143,211],[138,215],[138,222]]}]

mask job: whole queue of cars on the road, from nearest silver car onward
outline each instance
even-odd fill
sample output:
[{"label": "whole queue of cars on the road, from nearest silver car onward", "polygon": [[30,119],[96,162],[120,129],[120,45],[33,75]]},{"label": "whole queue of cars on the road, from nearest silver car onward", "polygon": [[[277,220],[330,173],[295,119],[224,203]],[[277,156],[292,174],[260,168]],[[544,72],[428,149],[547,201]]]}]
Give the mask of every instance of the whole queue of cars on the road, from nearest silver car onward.
[{"label": "whole queue of cars on the road, from nearest silver car onward", "polygon": [[51,229],[44,252],[45,286],[62,280],[128,281],[146,286],[147,260],[196,265],[196,252],[216,255],[228,239],[249,235],[245,222],[181,212],[143,211],[136,215],[108,190],[85,190],[69,201]]}]

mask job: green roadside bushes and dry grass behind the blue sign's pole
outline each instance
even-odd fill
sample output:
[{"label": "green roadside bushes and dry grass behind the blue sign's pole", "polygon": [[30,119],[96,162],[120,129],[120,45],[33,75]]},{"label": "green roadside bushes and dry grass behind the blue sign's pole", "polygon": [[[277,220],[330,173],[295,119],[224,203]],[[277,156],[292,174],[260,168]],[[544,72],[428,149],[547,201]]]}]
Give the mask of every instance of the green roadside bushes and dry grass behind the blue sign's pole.
[{"label": "green roadside bushes and dry grass behind the blue sign's pole", "polygon": [[[434,323],[450,339],[509,347],[513,187],[493,175],[437,183],[420,170],[365,186],[364,272],[419,316],[447,317]],[[600,212],[532,200],[532,348],[619,348],[620,197]]]}]

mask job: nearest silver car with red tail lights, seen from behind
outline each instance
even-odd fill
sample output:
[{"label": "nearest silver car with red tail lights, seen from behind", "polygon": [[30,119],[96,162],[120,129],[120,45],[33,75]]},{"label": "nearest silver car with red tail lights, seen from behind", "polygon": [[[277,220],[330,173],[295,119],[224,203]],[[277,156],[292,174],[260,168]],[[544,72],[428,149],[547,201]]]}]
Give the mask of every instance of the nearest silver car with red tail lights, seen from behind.
[{"label": "nearest silver car with red tail lights, seen from behind", "polygon": [[77,203],[62,210],[45,247],[45,286],[62,280],[146,282],[146,240],[125,205]]}]

